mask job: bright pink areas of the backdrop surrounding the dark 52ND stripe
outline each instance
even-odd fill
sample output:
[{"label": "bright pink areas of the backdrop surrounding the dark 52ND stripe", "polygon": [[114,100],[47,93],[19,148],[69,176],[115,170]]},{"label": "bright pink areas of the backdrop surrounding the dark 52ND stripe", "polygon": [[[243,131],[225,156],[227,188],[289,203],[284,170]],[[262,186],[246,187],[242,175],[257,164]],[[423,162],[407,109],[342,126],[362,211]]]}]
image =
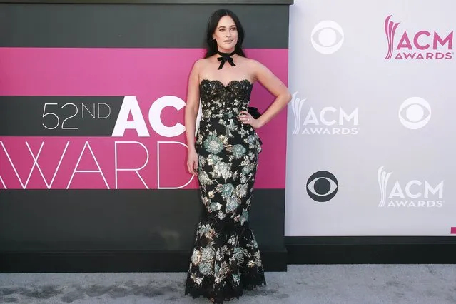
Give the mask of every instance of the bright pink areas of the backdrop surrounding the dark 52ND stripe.
[{"label": "bright pink areas of the backdrop surrounding the dark 52ND stripe", "polygon": [[[245,51],[288,83],[288,49]],[[148,111],[163,96],[186,100],[188,73],[201,56],[202,49],[0,48],[0,96],[135,96],[149,133],[0,137],[0,188],[197,188],[186,172],[185,133],[161,136]],[[263,112],[273,100],[255,83],[252,106]],[[183,124],[183,114],[168,107],[161,119]],[[258,134],[255,187],[285,188],[286,108]]]}]

